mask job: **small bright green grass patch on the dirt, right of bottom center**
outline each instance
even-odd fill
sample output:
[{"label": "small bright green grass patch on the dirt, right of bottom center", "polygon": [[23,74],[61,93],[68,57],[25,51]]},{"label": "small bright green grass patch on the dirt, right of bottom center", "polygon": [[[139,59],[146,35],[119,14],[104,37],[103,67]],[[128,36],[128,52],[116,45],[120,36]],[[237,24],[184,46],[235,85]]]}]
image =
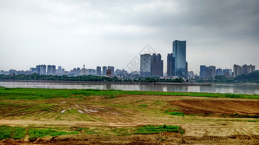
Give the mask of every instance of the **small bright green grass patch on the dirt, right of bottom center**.
[{"label": "small bright green grass patch on the dirt, right of bottom center", "polygon": [[144,125],[137,129],[136,132],[133,134],[152,134],[152,133],[158,133],[158,132],[165,132],[165,131],[172,131],[172,132],[179,132],[181,134],[184,134],[185,131],[179,127],[179,126],[173,126],[173,125]]}]

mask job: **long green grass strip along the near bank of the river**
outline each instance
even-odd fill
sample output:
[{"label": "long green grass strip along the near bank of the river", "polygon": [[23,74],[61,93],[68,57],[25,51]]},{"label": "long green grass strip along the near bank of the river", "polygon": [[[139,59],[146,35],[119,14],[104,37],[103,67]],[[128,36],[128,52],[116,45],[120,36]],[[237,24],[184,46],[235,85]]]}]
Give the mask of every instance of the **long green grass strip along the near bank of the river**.
[{"label": "long green grass strip along the near bank of the river", "polygon": [[99,89],[50,89],[50,88],[7,88],[0,87],[0,100],[38,100],[51,98],[83,98],[87,96],[105,96],[105,99],[113,99],[117,96],[129,95],[174,95],[197,97],[224,97],[259,99],[259,95],[247,94],[221,94],[221,93],[196,93],[196,92],[155,92],[155,91],[123,91],[123,90],[99,90]]}]

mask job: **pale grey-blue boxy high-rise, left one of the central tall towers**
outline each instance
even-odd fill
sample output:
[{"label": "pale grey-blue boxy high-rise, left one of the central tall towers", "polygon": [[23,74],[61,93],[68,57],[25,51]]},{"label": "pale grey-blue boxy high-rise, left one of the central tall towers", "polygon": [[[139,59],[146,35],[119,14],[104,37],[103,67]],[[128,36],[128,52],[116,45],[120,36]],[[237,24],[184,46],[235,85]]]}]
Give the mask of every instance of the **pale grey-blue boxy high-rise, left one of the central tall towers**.
[{"label": "pale grey-blue boxy high-rise, left one of the central tall towers", "polygon": [[151,76],[151,55],[140,55],[140,76]]}]

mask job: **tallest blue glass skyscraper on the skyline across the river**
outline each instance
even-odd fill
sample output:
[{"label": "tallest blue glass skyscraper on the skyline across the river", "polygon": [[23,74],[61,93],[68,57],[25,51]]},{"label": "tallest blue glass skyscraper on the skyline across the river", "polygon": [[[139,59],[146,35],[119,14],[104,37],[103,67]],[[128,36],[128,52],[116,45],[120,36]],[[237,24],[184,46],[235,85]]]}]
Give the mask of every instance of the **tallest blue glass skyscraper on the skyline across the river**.
[{"label": "tallest blue glass skyscraper on the skyline across the river", "polygon": [[173,41],[173,59],[174,75],[187,78],[186,41]]}]

